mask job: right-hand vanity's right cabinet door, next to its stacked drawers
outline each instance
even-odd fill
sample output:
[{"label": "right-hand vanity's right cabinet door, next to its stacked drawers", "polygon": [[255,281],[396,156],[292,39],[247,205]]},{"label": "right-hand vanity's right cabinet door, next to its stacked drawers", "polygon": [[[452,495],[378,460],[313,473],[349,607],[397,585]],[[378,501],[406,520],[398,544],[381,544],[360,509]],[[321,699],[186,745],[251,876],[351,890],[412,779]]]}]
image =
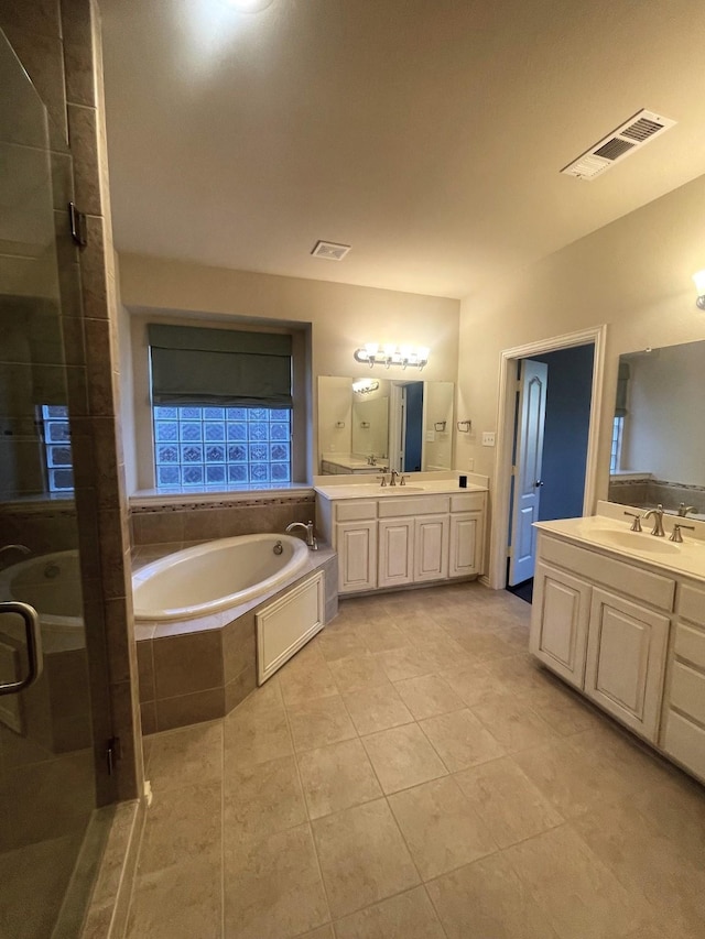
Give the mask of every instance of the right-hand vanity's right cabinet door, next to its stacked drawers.
[{"label": "right-hand vanity's right cabinet door, next to its stacked drawers", "polygon": [[670,620],[606,590],[593,590],[585,694],[655,741]]}]

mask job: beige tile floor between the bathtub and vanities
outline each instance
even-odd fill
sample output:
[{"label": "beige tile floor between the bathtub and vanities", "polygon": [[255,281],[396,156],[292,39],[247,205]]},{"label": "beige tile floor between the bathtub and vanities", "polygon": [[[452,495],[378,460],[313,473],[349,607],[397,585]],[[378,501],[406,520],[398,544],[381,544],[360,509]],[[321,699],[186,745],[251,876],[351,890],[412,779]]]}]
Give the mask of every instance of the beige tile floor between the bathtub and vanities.
[{"label": "beige tile floor between the bathtub and vanities", "polygon": [[224,720],[147,739],[130,939],[702,939],[705,790],[479,585],[346,600]]}]

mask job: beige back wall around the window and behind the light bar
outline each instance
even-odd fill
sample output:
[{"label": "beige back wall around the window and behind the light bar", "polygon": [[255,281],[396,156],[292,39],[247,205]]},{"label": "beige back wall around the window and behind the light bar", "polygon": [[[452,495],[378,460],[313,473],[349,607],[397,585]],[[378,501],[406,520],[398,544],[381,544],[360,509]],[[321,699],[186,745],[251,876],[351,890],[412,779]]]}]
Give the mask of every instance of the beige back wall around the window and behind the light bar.
[{"label": "beige back wall around the window and behind the light bar", "polygon": [[[322,262],[330,263],[330,262]],[[313,395],[316,412],[318,375],[409,378],[356,362],[352,352],[366,341],[411,342],[429,346],[431,357],[423,370],[426,381],[457,381],[458,301],[419,294],[380,291],[348,284],[279,277],[223,267],[205,267],[181,261],[120,255],[120,290],[123,317],[127,310],[183,312],[210,321],[219,317],[312,324]],[[124,326],[124,324],[123,324]],[[123,328],[122,335],[127,335]],[[124,346],[121,353],[124,354]],[[132,395],[128,382],[131,364],[123,362],[123,401]],[[129,394],[128,394],[129,392]],[[139,406],[139,401],[138,401]],[[124,413],[124,427],[131,426]],[[313,452],[317,451],[314,421]],[[130,441],[126,434],[126,463],[130,481],[137,479]],[[130,488],[129,491],[134,487]]]}]

